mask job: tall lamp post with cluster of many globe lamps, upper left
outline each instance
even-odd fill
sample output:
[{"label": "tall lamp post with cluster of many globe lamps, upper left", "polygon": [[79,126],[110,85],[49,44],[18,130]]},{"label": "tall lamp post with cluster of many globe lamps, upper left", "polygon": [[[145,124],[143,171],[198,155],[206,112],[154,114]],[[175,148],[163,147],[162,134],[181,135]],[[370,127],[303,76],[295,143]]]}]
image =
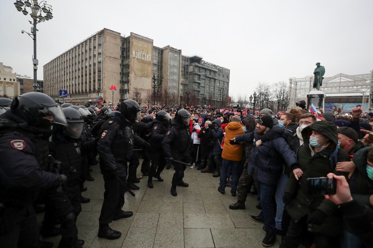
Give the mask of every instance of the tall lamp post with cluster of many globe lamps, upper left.
[{"label": "tall lamp post with cluster of many globe lamps, upper left", "polygon": [[[50,20],[53,18],[52,16],[52,6],[47,4],[47,1],[41,1],[40,4],[37,0],[17,0],[14,3],[14,6],[19,12],[22,12],[23,15],[27,16],[28,11],[26,7],[31,9],[30,16],[33,19],[33,22],[29,21],[33,26],[31,28],[31,33],[28,33],[24,30],[21,33],[27,33],[33,40],[34,40],[34,57],[32,58],[32,64],[34,65],[34,84],[32,85],[34,92],[40,91],[39,84],[37,83],[37,70],[38,70],[38,60],[36,58],[36,25],[40,22],[45,22],[46,20]],[[23,9],[22,9],[23,7]],[[41,12],[46,13],[45,16],[41,15]]]}]

